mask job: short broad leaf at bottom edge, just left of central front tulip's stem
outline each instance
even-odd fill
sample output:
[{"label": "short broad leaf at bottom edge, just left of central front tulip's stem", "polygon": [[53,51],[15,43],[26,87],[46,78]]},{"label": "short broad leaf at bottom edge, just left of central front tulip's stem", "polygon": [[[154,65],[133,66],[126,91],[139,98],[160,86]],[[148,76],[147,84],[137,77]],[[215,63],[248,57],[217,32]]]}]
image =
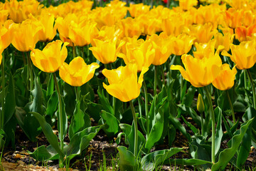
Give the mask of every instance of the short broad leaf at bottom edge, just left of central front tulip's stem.
[{"label": "short broad leaf at bottom edge, just left of central front tulip's stem", "polygon": [[136,157],[127,150],[127,147],[119,146],[117,147],[118,154],[119,154],[119,167],[120,170],[129,170],[129,171],[135,171],[137,170],[137,160]]}]

